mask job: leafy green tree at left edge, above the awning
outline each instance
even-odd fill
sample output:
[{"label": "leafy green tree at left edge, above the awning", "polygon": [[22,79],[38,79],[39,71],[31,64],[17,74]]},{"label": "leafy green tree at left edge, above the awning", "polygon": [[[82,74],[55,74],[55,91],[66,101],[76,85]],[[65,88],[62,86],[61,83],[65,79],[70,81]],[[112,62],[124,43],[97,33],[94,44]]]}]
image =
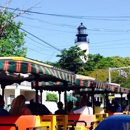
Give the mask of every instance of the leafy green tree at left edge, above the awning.
[{"label": "leafy green tree at left edge, above the awning", "polygon": [[27,48],[24,47],[24,32],[19,29],[21,22],[16,23],[13,14],[5,11],[0,14],[0,56],[26,56]]}]

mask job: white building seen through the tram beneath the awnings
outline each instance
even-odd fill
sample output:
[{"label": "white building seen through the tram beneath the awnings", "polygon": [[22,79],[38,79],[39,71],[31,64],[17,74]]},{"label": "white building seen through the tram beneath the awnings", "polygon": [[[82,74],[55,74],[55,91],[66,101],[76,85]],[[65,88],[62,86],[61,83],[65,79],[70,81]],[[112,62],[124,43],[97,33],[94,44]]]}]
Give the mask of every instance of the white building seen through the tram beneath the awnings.
[{"label": "white building seen through the tram beneath the awnings", "polygon": [[[42,92],[42,103],[46,102],[46,94],[47,93],[55,93],[58,97],[58,92],[51,92],[51,91],[43,91]],[[0,94],[2,95],[2,90],[0,88]],[[17,97],[18,95],[24,95],[27,102],[31,99],[35,99],[35,90],[31,88],[31,82],[24,81],[20,85],[14,83],[13,85],[8,85],[5,87],[4,90],[4,100],[5,105],[11,104],[12,100]],[[41,93],[39,92],[39,95]],[[64,103],[64,93],[61,93],[61,101]]]}]

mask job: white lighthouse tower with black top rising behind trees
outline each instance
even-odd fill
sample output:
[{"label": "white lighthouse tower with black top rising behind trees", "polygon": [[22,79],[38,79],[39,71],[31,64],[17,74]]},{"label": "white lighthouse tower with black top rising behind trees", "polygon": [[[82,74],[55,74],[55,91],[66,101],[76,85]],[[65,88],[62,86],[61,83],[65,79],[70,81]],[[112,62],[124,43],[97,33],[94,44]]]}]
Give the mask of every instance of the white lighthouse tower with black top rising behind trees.
[{"label": "white lighthouse tower with black top rising behind trees", "polygon": [[81,23],[81,25],[77,28],[78,34],[76,34],[77,39],[75,41],[75,44],[85,53],[86,58],[81,57],[83,62],[87,62],[88,60],[88,54],[89,54],[89,47],[88,47],[88,40],[86,34],[86,27]]}]

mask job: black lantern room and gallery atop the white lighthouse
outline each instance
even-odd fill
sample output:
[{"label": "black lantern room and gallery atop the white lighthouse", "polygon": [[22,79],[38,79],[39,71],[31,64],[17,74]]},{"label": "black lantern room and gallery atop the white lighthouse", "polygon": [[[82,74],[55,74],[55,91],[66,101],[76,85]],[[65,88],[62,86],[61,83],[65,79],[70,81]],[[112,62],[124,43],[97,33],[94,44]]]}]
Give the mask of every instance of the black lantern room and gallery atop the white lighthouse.
[{"label": "black lantern room and gallery atop the white lighthouse", "polygon": [[78,34],[76,42],[87,42],[87,36],[88,34],[86,34],[86,27],[83,25],[83,23],[81,23],[81,25],[77,28],[78,30]]}]

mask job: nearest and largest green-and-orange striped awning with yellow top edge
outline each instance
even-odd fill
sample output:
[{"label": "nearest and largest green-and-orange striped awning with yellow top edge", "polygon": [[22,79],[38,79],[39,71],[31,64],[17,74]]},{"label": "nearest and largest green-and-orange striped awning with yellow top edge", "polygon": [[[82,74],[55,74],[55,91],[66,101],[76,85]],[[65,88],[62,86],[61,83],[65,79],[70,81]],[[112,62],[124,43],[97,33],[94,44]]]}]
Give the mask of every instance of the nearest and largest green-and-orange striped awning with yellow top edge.
[{"label": "nearest and largest green-and-orange striped awning with yellow top edge", "polygon": [[8,84],[21,81],[68,81],[74,82],[75,75],[63,69],[23,57],[0,57],[0,80]]}]

